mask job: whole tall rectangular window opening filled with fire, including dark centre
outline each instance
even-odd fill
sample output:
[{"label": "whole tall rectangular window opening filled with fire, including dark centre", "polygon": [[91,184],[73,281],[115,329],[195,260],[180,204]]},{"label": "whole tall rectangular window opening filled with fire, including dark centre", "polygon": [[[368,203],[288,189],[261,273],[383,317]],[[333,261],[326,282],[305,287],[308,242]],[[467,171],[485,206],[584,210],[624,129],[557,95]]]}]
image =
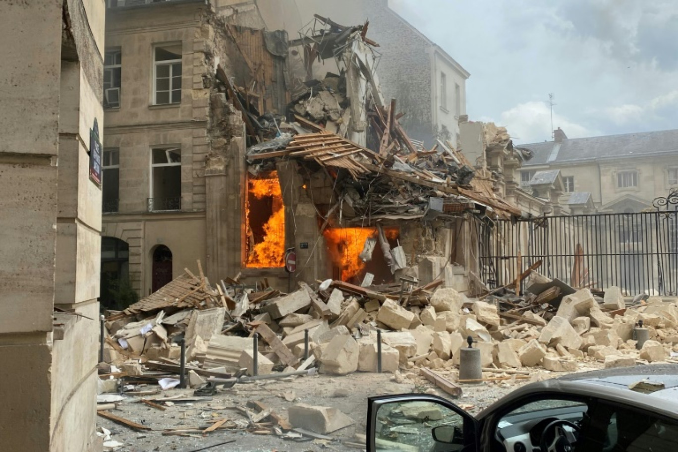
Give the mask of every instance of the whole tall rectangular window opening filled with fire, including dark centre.
[{"label": "whole tall rectangular window opening filled with fire, including dark centre", "polygon": [[277,171],[247,180],[245,226],[245,266],[285,266],[285,208]]}]

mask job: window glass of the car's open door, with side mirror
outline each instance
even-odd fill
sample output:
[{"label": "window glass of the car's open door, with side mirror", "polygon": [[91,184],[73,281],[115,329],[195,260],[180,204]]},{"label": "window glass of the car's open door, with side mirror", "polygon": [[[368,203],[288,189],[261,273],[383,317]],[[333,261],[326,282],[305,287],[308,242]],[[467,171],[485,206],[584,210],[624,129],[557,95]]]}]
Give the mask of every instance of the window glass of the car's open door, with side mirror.
[{"label": "window glass of the car's open door, with side mirror", "polygon": [[464,449],[464,418],[437,403],[394,402],[377,411],[378,451],[450,451]]}]

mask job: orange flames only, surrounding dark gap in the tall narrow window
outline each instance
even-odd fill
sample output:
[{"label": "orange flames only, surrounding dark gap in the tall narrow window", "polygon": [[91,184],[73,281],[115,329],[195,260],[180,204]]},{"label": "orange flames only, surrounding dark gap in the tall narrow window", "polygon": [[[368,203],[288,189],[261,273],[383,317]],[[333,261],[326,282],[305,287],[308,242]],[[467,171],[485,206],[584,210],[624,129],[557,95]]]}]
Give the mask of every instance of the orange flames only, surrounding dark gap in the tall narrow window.
[{"label": "orange flames only, surrounding dark gap in the tall narrow window", "polygon": [[[257,199],[273,198],[273,213],[264,224],[264,239],[259,243],[251,243],[248,239],[250,246],[245,266],[250,268],[282,267],[285,265],[285,207],[277,171],[269,173],[266,179],[248,180],[247,194],[248,198],[250,194]],[[247,237],[253,237],[249,202],[245,205],[245,222]]]}]

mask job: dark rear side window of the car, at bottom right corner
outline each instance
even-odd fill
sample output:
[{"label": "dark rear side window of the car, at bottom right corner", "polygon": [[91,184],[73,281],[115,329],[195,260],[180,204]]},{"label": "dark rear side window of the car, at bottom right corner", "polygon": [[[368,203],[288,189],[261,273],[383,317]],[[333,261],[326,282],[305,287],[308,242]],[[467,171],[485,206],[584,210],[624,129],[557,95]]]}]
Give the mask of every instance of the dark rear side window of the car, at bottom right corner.
[{"label": "dark rear side window of the car, at bottom right corner", "polygon": [[622,407],[601,407],[595,419],[591,443],[603,452],[678,451],[678,422]]}]

